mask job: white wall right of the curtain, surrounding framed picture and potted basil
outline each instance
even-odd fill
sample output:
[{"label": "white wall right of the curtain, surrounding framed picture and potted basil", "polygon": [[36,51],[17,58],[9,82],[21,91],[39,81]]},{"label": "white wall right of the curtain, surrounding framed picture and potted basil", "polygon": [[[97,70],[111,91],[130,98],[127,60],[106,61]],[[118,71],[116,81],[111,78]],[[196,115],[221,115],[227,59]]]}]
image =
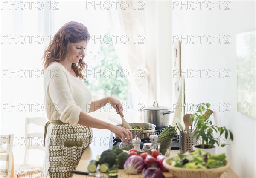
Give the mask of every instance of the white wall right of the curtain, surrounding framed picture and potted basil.
[{"label": "white wall right of the curtain, surrounding framed picture and potted basil", "polygon": [[[212,103],[214,106],[214,118],[218,126],[226,126],[233,132],[234,140],[230,143],[230,146],[224,148],[218,148],[217,152],[226,152],[228,160],[231,161],[231,169],[239,176],[246,178],[256,177],[256,120],[248,117],[247,115],[237,112],[237,60],[236,60],[236,34],[241,32],[247,32],[256,29],[256,1],[222,1],[221,10],[217,4],[219,1],[212,1],[214,8],[211,8],[211,4],[206,6],[207,1],[200,4],[198,1],[197,9],[192,10],[189,7],[194,8],[195,4],[188,1],[182,1],[183,4],[188,3],[188,9],[186,6],[172,6],[174,3],[180,5],[180,1],[160,1],[159,8],[162,8],[159,14],[164,14],[165,23],[171,24],[172,35],[178,35],[185,38],[186,35],[197,36],[197,43],[192,44],[194,38],[190,38],[187,42],[182,40],[181,44],[181,66],[182,72],[188,70],[188,76],[185,76],[185,90],[186,90],[186,103]],[[230,4],[228,4],[230,3]],[[223,10],[227,6],[229,10]],[[171,10],[173,8],[173,10]],[[171,15],[169,15],[171,12]],[[162,15],[162,17],[164,17]],[[160,24],[163,19],[160,19]],[[169,27],[169,25],[167,25]],[[172,78],[168,78],[166,74],[170,75],[170,58],[169,55],[163,57],[163,54],[172,53],[172,46],[170,45],[170,35],[166,32],[166,29],[159,28],[159,47],[164,46],[164,50],[160,50],[159,54],[159,70],[160,80],[165,80],[166,83],[172,83]],[[212,44],[207,43],[206,38],[203,37],[202,43],[198,35],[212,35],[214,42]],[[221,44],[219,43],[219,35],[222,35]],[[224,35],[228,35],[230,38],[227,42],[230,44],[224,44]],[[174,37],[174,36],[172,36]],[[210,42],[210,38],[208,39]],[[163,43],[164,45],[161,46]],[[168,45],[168,46],[166,46]],[[163,70],[162,70],[163,69]],[[197,71],[197,76],[193,78]],[[205,69],[200,77],[198,69]],[[212,78],[207,77],[206,70],[211,69],[214,71]],[[220,71],[222,70],[222,76],[220,77]],[[230,78],[224,78],[224,69],[227,69],[230,73],[227,75]],[[189,71],[191,72],[189,75]],[[219,72],[218,72],[219,71]],[[208,73],[208,76],[211,73]],[[172,81],[172,82],[171,82]],[[171,88],[170,85],[164,87],[160,82],[160,101],[169,103],[167,99],[170,98]],[[173,99],[174,97],[172,97]],[[227,108],[228,107],[228,108]],[[227,112],[224,112],[227,108]],[[189,112],[189,111],[188,111]]]}]

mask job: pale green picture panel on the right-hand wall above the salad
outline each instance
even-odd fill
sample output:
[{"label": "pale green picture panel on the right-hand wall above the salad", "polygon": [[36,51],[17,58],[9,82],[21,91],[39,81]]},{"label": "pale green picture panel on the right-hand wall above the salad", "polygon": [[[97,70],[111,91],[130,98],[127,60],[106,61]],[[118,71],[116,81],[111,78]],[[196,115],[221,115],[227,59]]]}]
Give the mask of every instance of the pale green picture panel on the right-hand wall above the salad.
[{"label": "pale green picture panel on the right-hand wall above the salad", "polygon": [[256,30],[236,35],[237,110],[256,118]]}]

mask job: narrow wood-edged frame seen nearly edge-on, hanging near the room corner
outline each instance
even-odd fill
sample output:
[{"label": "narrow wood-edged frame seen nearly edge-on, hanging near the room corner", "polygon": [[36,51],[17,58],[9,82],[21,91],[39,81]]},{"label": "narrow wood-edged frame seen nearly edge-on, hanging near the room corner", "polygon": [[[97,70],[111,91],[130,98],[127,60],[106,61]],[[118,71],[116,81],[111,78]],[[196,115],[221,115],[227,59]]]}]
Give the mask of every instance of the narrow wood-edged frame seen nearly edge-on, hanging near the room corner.
[{"label": "narrow wood-edged frame seen nearly edge-on, hanging near the room corner", "polygon": [[175,74],[178,71],[178,74],[174,75],[175,77],[175,95],[178,96],[179,92],[179,80],[181,77],[181,58],[180,58],[180,41],[174,43],[174,71]]}]

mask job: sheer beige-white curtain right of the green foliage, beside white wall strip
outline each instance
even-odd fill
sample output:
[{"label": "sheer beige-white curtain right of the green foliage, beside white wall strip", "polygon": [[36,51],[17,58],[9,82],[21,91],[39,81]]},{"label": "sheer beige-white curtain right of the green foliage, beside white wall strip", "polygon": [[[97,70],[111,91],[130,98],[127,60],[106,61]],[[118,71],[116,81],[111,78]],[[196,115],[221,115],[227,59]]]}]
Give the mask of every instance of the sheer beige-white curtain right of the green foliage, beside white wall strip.
[{"label": "sheer beige-white curtain right of the green foliage, beside white wall strip", "polygon": [[126,40],[118,41],[115,48],[123,69],[129,72],[128,79],[137,88],[134,91],[138,92],[133,92],[134,104],[141,108],[153,105],[157,99],[155,1],[126,2],[127,9],[111,9],[109,18],[112,35],[127,36],[129,39],[127,43]]}]

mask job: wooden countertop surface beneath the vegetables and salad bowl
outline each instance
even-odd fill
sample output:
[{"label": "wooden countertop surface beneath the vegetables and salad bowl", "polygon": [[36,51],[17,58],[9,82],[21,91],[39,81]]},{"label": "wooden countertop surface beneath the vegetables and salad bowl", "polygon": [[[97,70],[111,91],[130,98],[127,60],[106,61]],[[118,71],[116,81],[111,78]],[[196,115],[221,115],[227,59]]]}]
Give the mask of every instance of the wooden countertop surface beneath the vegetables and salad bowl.
[{"label": "wooden countertop surface beneath the vegetables and salad bowl", "polygon": [[[110,143],[110,131],[109,130],[103,130],[103,129],[93,129],[93,142],[90,144],[90,146],[84,150],[84,153],[81,157],[81,160],[79,161],[79,164],[76,168],[77,171],[83,171],[87,172],[87,165],[88,162],[92,159],[96,159],[97,155],[100,155],[103,151],[107,150]],[[177,155],[177,152],[179,150],[173,150],[171,151],[170,156]],[[106,173],[96,172],[97,175],[101,175],[101,177],[108,178],[108,175]],[[163,172],[164,176],[166,178],[172,178],[170,172]],[[143,174],[137,174],[137,175],[131,175],[125,172],[124,169],[120,169],[118,172],[118,178],[142,178]],[[92,178],[88,175],[79,175],[74,174],[73,178]],[[228,169],[225,171],[221,178],[238,178],[238,176],[231,170]]]}]

